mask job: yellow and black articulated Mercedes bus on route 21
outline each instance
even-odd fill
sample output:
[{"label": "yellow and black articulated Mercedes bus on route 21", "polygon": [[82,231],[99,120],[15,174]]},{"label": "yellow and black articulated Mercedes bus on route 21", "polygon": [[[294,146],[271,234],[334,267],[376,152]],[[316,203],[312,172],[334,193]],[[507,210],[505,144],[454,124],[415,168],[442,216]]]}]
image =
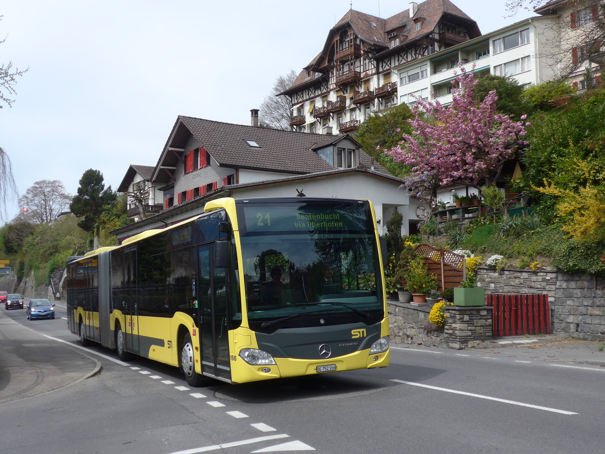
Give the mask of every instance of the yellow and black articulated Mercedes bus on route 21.
[{"label": "yellow and black articulated Mercedes bus on route 21", "polygon": [[368,200],[212,200],[71,257],[68,326],[122,360],[180,367],[191,386],[385,367],[382,262]]}]

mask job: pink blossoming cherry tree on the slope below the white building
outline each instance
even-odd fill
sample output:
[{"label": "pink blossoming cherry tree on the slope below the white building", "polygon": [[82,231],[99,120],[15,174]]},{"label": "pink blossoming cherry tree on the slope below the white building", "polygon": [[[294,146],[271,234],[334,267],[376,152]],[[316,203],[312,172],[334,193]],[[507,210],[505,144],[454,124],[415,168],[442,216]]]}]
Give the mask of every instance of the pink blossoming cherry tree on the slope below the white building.
[{"label": "pink blossoming cherry tree on the slope below the white building", "polygon": [[477,80],[465,68],[460,70],[451,104],[418,99],[414,118],[408,120],[413,132],[403,134],[396,147],[384,150],[397,162],[413,166],[404,186],[411,195],[428,197],[431,203],[442,185],[478,188],[479,182],[498,179],[506,160],[526,144],[522,140],[529,125],[526,116],[514,122],[508,115],[495,113],[495,91],[477,100]]}]

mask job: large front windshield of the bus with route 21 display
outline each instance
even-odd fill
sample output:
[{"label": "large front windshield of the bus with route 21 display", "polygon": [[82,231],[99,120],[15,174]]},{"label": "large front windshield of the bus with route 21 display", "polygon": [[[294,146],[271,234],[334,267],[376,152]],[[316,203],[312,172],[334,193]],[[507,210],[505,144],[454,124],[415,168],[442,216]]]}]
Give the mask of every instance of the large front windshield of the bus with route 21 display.
[{"label": "large front windshield of the bus with route 21 display", "polygon": [[251,329],[372,324],[384,317],[367,202],[245,205],[240,234]]}]

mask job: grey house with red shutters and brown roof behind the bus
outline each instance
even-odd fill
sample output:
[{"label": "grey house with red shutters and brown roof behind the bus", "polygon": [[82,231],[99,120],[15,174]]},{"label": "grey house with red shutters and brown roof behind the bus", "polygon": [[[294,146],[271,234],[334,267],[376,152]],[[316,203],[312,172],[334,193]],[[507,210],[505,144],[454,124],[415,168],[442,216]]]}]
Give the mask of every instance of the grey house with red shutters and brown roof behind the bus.
[{"label": "grey house with red shutters and brown roof behind the bus", "polygon": [[[255,111],[252,111],[254,123]],[[113,231],[120,240],[203,212],[218,197],[369,199],[380,219],[408,209],[403,180],[348,134],[325,135],[178,116],[151,174],[162,211]],[[414,208],[415,209],[415,208]],[[383,225],[380,226],[382,229]]]}]

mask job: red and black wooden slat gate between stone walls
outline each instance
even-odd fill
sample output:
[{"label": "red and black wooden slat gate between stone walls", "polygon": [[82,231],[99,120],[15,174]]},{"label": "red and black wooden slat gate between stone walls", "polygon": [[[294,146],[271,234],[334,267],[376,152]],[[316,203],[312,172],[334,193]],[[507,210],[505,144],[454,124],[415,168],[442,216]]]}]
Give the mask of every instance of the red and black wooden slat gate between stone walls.
[{"label": "red and black wooden slat gate between stone walls", "polygon": [[493,335],[551,334],[548,295],[486,295],[494,308]]}]

